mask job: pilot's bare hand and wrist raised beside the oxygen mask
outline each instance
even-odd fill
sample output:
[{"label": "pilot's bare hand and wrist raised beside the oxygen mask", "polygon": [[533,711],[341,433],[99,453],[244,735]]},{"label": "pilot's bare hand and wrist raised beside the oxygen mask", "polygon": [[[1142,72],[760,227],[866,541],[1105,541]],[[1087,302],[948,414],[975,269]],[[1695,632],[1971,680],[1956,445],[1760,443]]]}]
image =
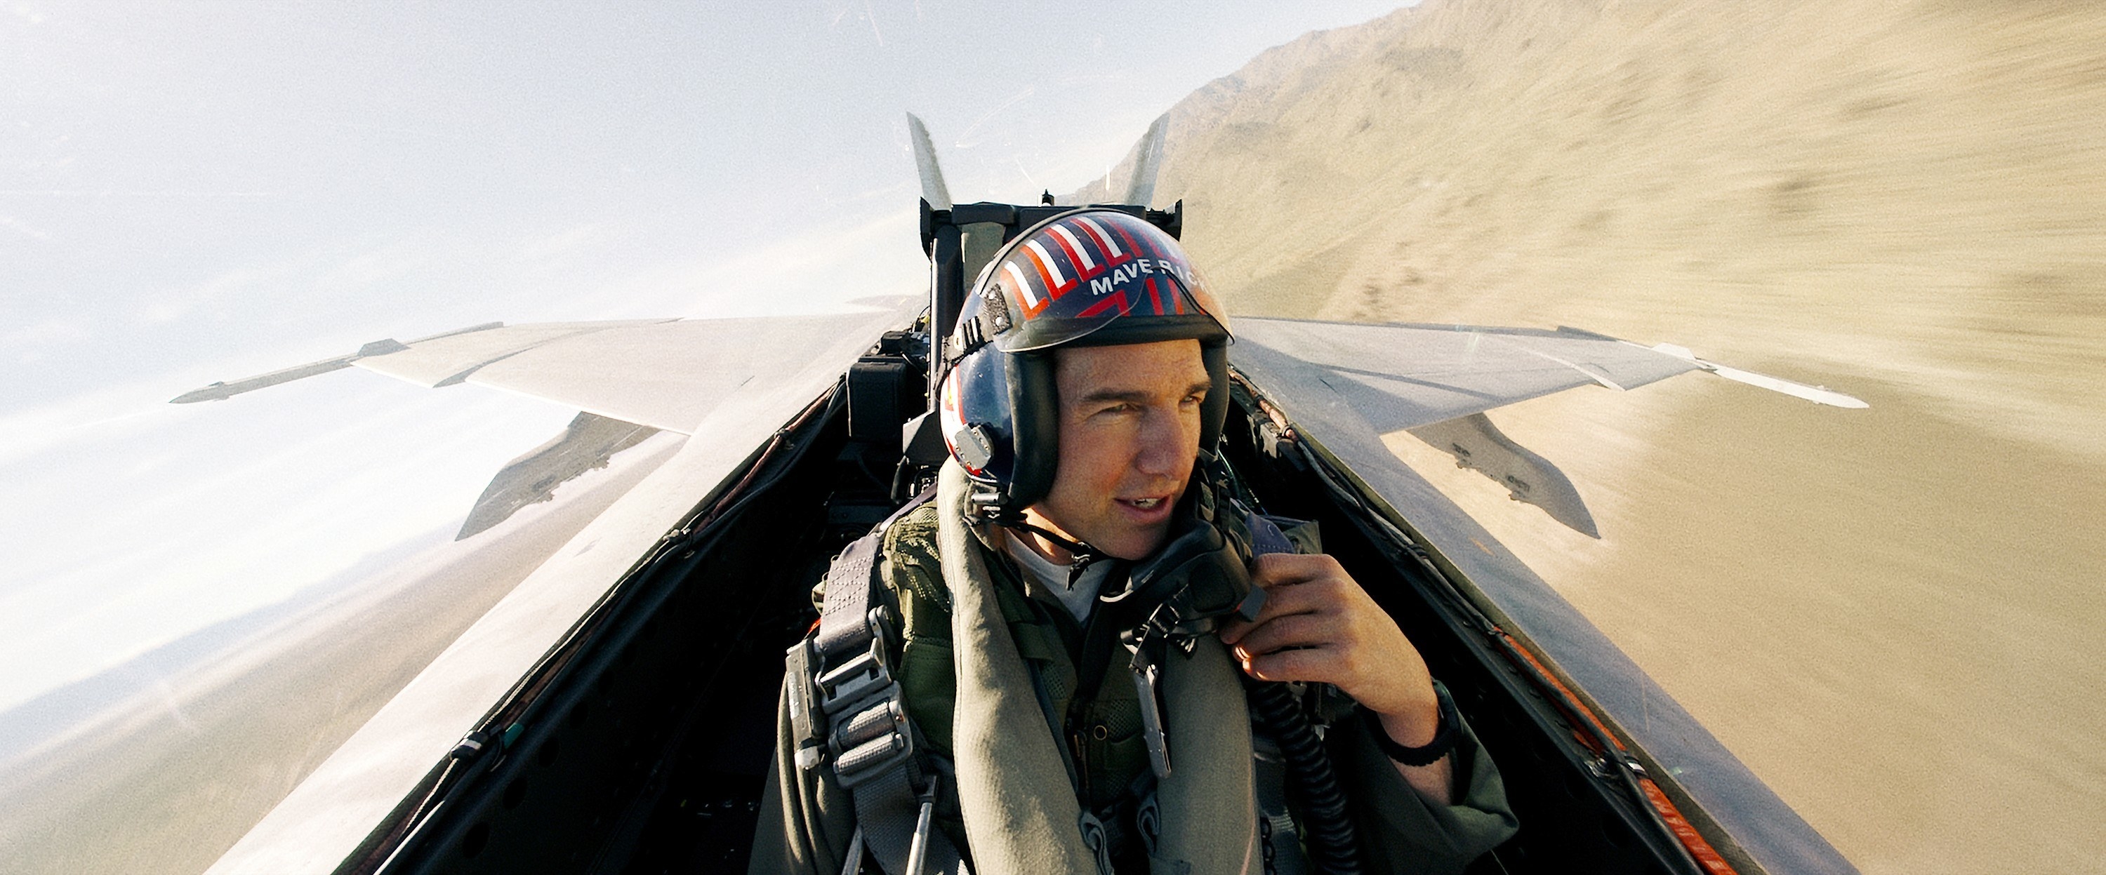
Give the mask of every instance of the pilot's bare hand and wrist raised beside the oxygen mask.
[{"label": "pilot's bare hand and wrist raised beside the oxygen mask", "polygon": [[[1329,555],[1266,553],[1251,583],[1266,589],[1257,620],[1232,620],[1221,644],[1261,681],[1331,684],[1382,715],[1398,745],[1424,747],[1441,728],[1441,700],[1426,660],[1382,606]],[[1449,757],[1398,766],[1413,787],[1447,801]]]}]

